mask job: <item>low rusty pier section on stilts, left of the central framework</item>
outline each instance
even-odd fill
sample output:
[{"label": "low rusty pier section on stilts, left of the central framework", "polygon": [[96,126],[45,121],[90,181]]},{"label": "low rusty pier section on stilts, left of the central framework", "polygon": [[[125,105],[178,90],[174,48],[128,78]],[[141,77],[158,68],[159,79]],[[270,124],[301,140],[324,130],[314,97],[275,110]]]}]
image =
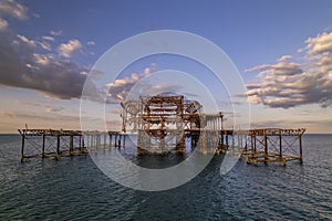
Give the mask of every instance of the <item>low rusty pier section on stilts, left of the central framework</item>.
[{"label": "low rusty pier section on stilts, left of the central framework", "polygon": [[[121,147],[125,145],[120,131],[82,131],[63,129],[19,129],[21,135],[20,159],[41,156],[54,157],[87,154],[87,149]],[[122,143],[123,138],[123,143]]]}]

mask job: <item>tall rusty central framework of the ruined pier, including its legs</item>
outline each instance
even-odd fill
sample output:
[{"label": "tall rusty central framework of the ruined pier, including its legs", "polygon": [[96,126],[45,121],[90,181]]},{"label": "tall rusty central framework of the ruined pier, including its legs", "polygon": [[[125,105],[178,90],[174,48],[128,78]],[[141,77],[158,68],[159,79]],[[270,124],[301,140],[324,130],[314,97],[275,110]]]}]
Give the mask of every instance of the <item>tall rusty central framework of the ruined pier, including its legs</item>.
[{"label": "tall rusty central framework of the ruined pier, including its legs", "polygon": [[[203,130],[220,130],[222,114],[203,114],[197,101],[181,95],[145,96],[122,103],[123,133],[137,133],[142,152],[185,151],[185,137],[197,143]],[[220,118],[221,117],[221,118]]]}]

